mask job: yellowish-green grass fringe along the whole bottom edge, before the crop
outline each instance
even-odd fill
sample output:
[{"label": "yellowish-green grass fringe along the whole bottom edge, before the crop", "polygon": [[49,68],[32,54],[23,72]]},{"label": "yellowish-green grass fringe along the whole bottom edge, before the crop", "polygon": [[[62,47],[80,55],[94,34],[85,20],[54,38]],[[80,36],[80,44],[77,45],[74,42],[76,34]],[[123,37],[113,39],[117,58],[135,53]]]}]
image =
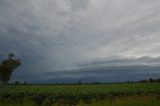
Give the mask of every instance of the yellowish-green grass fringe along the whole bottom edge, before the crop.
[{"label": "yellowish-green grass fringe along the whole bottom edge, before the crop", "polygon": [[[54,104],[48,106],[71,106],[70,104],[62,104],[62,101],[57,101]],[[13,101],[3,101],[0,106],[36,106],[32,101],[24,101],[22,103]],[[38,105],[37,105],[38,106]],[[42,104],[42,106],[47,106]],[[104,100],[93,100],[91,103],[85,103],[84,101],[79,101],[74,106],[160,106],[160,99],[150,96],[128,96],[116,99],[104,99]]]}]

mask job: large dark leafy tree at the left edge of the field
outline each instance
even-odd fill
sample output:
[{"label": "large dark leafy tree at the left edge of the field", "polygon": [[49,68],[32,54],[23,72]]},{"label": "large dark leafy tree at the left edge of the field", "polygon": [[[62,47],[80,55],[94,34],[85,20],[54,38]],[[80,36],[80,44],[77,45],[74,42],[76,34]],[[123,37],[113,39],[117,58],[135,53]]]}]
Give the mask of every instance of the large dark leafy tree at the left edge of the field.
[{"label": "large dark leafy tree at the left edge of the field", "polygon": [[21,65],[19,59],[15,59],[15,55],[12,53],[8,54],[8,59],[3,60],[0,63],[0,82],[7,84],[13,71]]}]

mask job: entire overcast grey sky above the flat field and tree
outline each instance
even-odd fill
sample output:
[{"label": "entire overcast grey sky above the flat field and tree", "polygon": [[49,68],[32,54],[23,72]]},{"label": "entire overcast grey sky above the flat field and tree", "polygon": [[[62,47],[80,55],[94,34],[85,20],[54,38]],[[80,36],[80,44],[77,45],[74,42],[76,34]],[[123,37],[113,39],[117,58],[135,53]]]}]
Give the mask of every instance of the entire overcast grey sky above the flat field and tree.
[{"label": "entire overcast grey sky above the flat field and tree", "polygon": [[117,82],[160,77],[159,0],[0,0],[0,60],[12,81]]}]

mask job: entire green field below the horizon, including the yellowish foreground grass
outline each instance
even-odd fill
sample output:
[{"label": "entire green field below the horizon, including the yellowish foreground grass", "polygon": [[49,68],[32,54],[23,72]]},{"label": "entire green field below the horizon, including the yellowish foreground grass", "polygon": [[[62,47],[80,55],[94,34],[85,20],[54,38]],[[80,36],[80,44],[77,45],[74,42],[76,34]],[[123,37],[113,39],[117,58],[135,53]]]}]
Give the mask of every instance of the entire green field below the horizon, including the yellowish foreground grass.
[{"label": "entire green field below the horizon, including the yellowish foreground grass", "polygon": [[160,83],[4,85],[0,106],[160,106]]}]

